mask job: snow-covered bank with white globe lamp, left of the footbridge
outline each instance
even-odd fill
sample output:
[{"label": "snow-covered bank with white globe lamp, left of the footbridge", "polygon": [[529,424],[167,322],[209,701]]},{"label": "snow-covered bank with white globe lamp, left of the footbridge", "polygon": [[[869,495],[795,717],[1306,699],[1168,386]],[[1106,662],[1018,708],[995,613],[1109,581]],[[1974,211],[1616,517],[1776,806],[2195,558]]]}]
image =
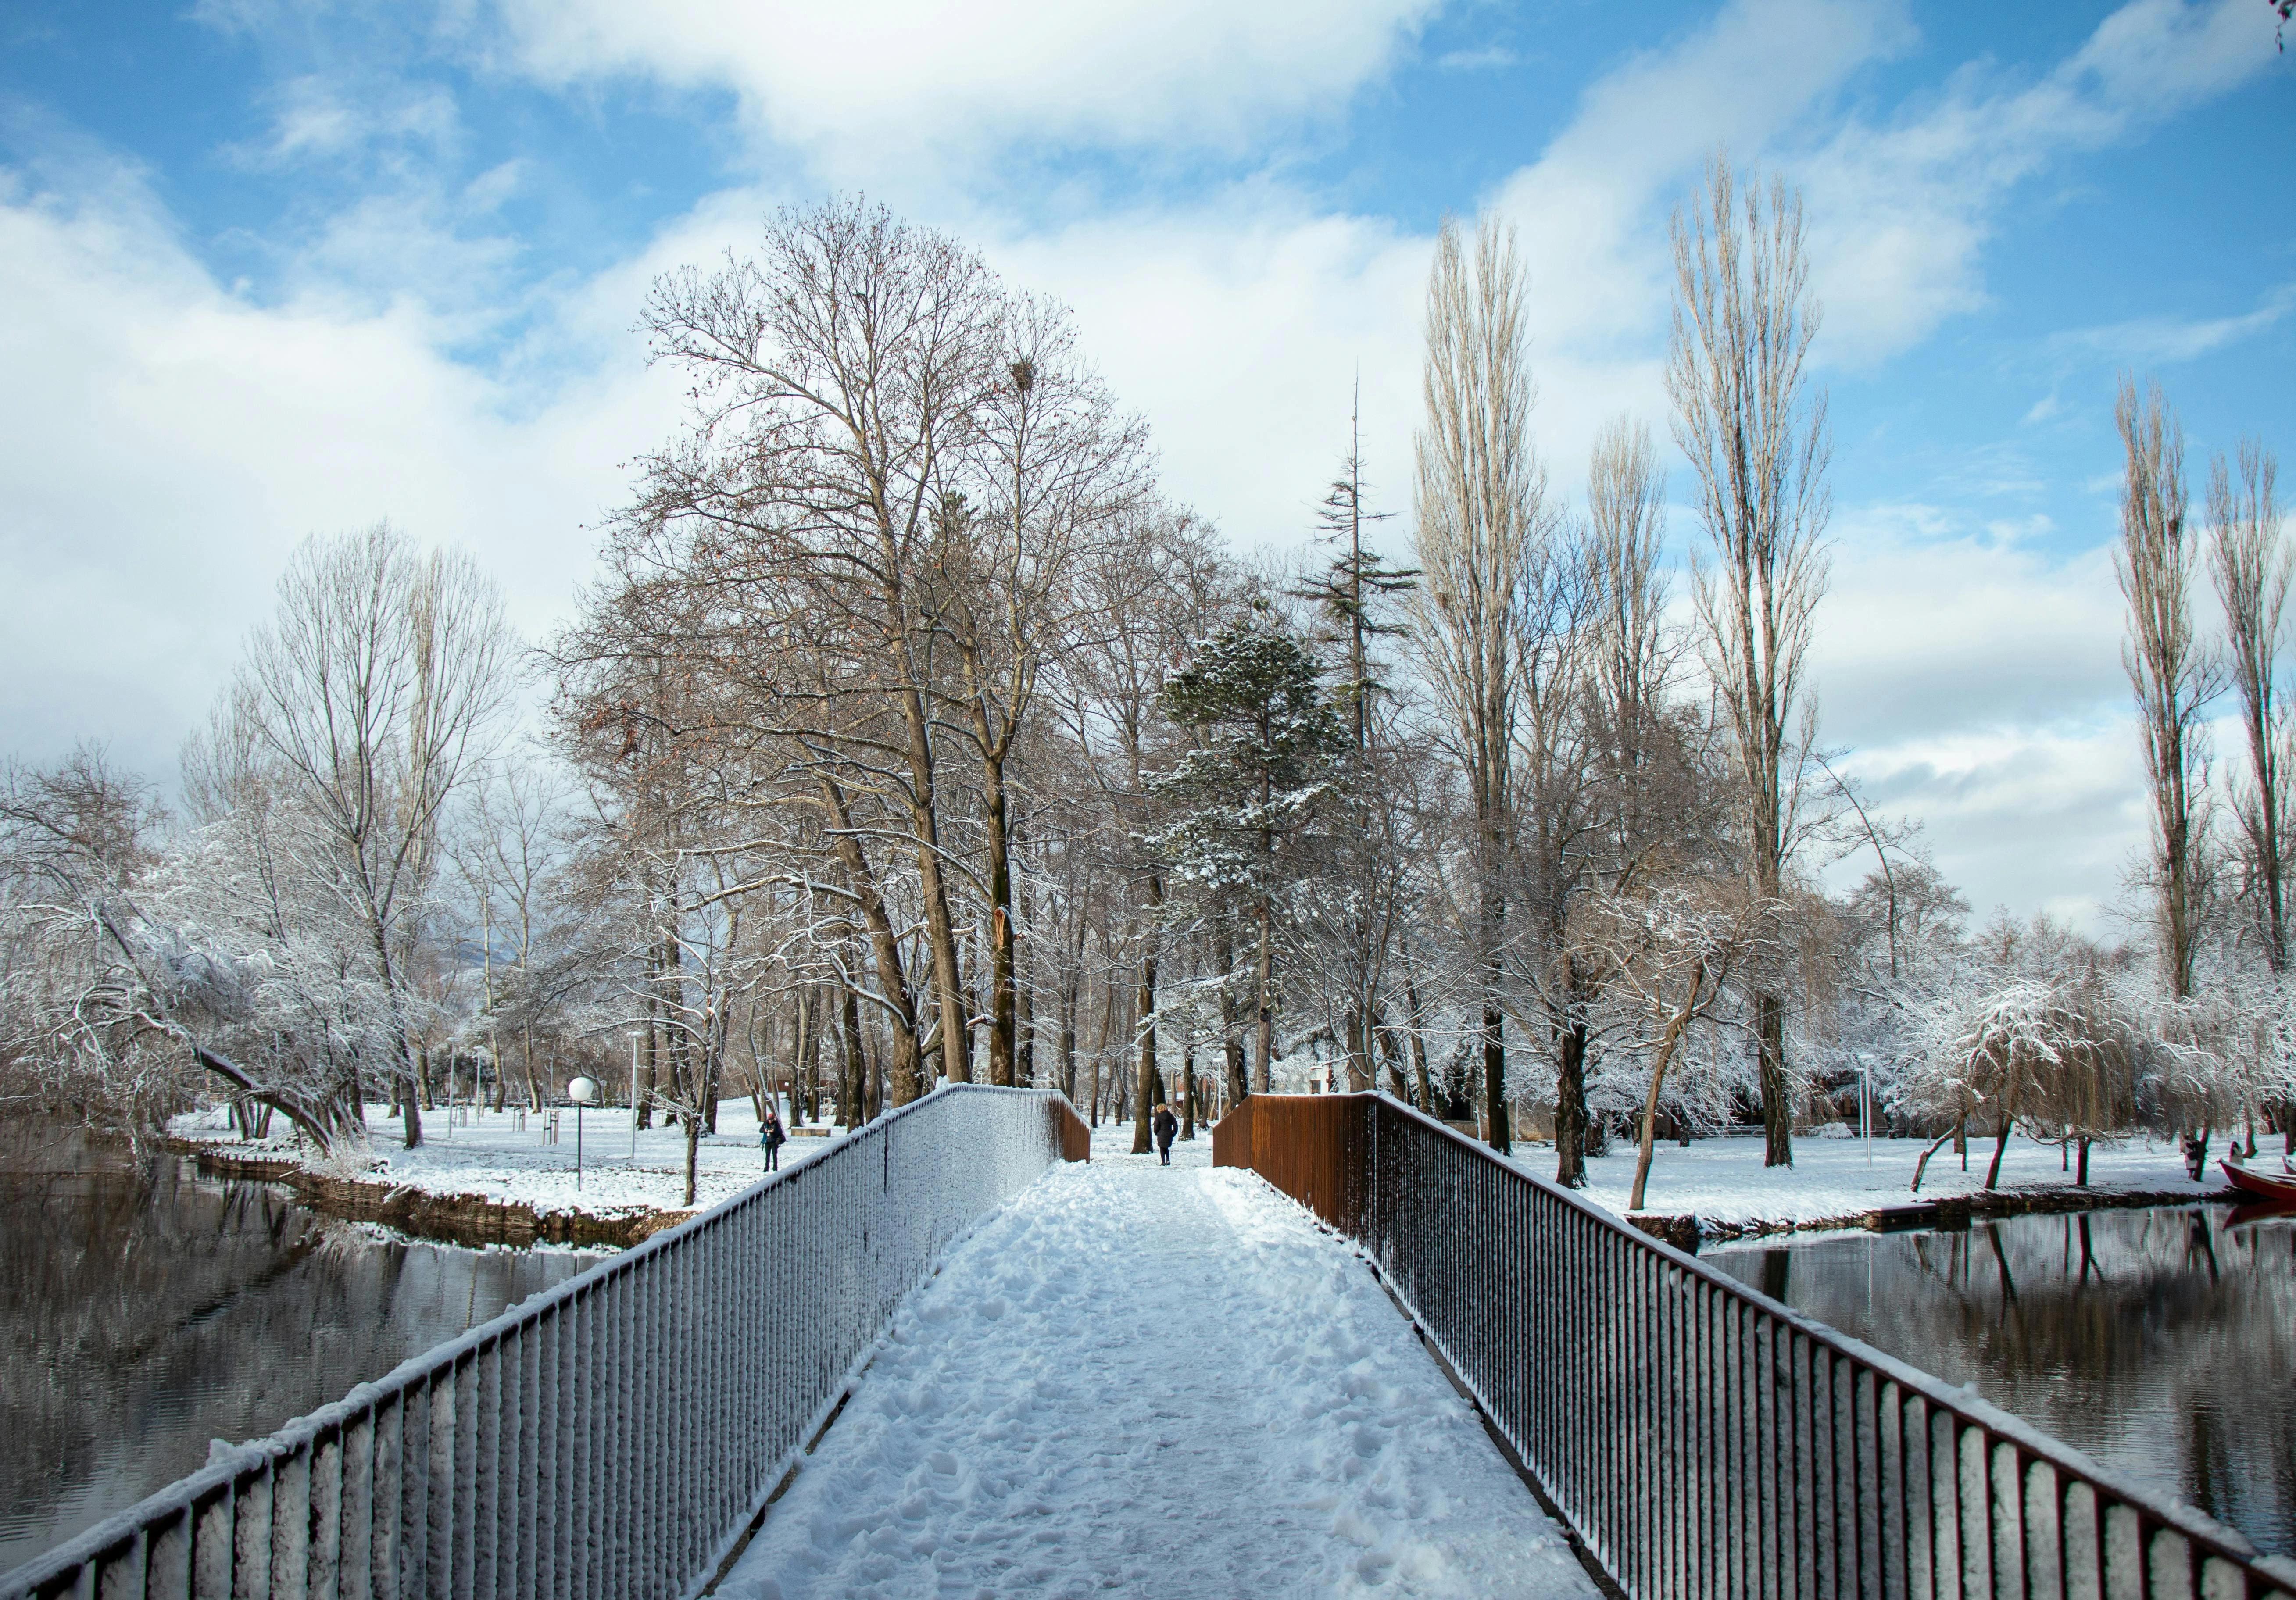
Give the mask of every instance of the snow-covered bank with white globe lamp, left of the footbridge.
[{"label": "snow-covered bank with white globe lamp, left of the footbridge", "polygon": [[[560,1113],[558,1143],[544,1143],[546,1113],[528,1111],[523,1127],[512,1111],[471,1111],[468,1123],[455,1123],[443,1109],[422,1118],[422,1143],[406,1150],[397,1118],[388,1106],[367,1106],[365,1152],[338,1152],[315,1162],[321,1171],[367,1175],[411,1185],[429,1194],[478,1194],[489,1201],[517,1201],[537,1212],[620,1214],[631,1210],[684,1210],[687,1139],[680,1127],[638,1132],[631,1155],[629,1111],[599,1106],[581,1116],[581,1187],[574,1185],[574,1111]],[[294,1157],[285,1129],[287,1118],[273,1118],[273,1139],[262,1145],[236,1143],[223,1109],[179,1116],[172,1132],[186,1139],[218,1141],[234,1155]],[[833,1145],[827,1139],[794,1136],[781,1145],[781,1164],[792,1166]],[[381,1166],[377,1166],[377,1162]],[[696,1150],[696,1207],[730,1201],[765,1175],[765,1152],[758,1148],[758,1113],[748,1100],[719,1102],[719,1132],[703,1134]]]}]

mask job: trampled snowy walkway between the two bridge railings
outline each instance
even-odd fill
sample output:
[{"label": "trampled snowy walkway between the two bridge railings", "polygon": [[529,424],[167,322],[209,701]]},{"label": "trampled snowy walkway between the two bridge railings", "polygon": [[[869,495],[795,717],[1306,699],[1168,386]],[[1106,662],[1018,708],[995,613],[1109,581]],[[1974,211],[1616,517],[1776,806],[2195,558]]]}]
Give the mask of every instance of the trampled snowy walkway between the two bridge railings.
[{"label": "trampled snowy walkway between the two bridge railings", "polygon": [[1364,1265],[1199,1139],[951,1251],[719,1593],[1593,1586]]}]

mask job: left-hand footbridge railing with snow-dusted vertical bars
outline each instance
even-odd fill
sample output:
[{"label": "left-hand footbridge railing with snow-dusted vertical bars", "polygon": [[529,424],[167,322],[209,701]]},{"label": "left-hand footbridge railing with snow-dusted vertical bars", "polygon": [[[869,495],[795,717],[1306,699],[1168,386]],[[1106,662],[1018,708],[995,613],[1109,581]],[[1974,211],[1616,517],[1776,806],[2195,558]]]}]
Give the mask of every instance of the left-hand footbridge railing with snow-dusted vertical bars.
[{"label": "left-hand footbridge railing with snow-dusted vertical bars", "polygon": [[1045,1090],[928,1095],[218,1451],[0,1577],[0,1600],[698,1589],[900,1297],[1079,1129]]}]

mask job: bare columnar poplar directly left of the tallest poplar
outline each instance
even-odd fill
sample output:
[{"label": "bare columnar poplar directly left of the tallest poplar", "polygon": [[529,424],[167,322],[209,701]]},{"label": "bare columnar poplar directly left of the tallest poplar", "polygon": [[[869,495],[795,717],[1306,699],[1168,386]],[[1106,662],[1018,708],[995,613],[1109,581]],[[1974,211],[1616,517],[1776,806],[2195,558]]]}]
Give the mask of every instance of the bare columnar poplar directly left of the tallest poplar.
[{"label": "bare columnar poplar directly left of the tallest poplar", "polygon": [[1426,310],[1426,420],[1414,441],[1414,645],[1435,686],[1474,813],[1474,962],[1490,1143],[1511,1145],[1502,953],[1515,808],[1513,737],[1527,578],[1554,530],[1531,450],[1527,278],[1513,230],[1486,220],[1469,255],[1435,236]]}]

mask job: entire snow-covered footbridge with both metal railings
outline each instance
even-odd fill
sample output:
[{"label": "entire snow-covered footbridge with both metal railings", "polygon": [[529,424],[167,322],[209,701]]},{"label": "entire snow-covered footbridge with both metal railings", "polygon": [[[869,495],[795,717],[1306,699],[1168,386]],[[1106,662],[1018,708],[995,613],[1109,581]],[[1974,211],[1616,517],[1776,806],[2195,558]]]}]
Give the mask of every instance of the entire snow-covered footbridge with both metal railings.
[{"label": "entire snow-covered footbridge with both metal railings", "polygon": [[1210,1143],[1079,1166],[1058,1095],[944,1088],[0,1600],[2296,1600],[1394,1100],[1256,1095]]}]

